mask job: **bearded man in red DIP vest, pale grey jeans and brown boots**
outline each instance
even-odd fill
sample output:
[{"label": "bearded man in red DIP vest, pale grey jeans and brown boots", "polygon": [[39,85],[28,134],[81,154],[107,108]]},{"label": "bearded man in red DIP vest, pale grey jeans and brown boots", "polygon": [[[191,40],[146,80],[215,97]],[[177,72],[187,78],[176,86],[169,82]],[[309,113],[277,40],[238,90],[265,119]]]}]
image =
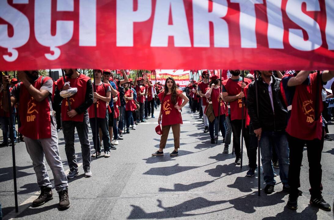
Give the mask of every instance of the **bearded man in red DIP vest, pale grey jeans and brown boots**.
[{"label": "bearded man in red DIP vest, pale grey jeans and brown boots", "polygon": [[[21,106],[19,114],[22,120],[19,132],[24,136],[25,146],[41,189],[39,197],[32,204],[39,206],[53,199],[52,184],[44,163],[45,156],[59,194],[59,208],[66,209],[70,206],[68,184],[58,151],[55,112],[52,109],[53,80],[50,77],[39,76],[37,70],[18,71],[17,74],[21,82],[12,89],[11,105],[14,106],[18,102]],[[4,84],[2,103],[5,110],[9,111],[8,76],[3,76],[2,81]]]}]

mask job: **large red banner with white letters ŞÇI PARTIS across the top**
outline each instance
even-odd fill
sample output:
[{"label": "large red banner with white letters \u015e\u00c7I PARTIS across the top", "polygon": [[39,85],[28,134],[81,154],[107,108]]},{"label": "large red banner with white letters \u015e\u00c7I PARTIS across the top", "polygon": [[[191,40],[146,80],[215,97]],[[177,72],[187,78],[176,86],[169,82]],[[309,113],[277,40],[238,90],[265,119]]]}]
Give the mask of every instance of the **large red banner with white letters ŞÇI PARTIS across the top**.
[{"label": "large red banner with white letters \u015e\u00c7I PARTIS across the top", "polygon": [[334,69],[334,0],[1,0],[0,69]]}]

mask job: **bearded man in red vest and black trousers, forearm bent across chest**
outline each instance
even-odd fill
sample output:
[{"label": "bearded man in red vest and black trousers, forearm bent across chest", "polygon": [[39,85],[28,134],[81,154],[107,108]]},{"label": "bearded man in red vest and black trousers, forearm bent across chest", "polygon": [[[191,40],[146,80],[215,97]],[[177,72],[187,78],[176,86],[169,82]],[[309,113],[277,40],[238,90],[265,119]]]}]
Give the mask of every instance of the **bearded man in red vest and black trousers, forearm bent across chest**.
[{"label": "bearded man in red vest and black trousers, forearm bent across chest", "polygon": [[[244,82],[242,82],[242,77],[240,76],[240,70],[230,70],[232,73],[232,77],[226,79],[222,82],[222,94],[225,102],[230,103],[230,121],[232,126],[233,133],[233,146],[235,151],[235,164],[241,164],[240,156],[242,154],[240,149],[240,135],[241,135],[241,122],[242,119],[245,122],[246,116],[246,107],[242,106],[242,98],[245,97],[243,93],[243,88],[246,87],[247,84],[251,83],[252,80],[248,78],[244,78]],[[242,115],[242,107],[243,114]],[[245,125],[243,125],[245,126]],[[249,148],[249,128],[243,128],[243,138],[245,139],[247,156],[248,148]],[[256,159],[255,159],[256,160]]]}]

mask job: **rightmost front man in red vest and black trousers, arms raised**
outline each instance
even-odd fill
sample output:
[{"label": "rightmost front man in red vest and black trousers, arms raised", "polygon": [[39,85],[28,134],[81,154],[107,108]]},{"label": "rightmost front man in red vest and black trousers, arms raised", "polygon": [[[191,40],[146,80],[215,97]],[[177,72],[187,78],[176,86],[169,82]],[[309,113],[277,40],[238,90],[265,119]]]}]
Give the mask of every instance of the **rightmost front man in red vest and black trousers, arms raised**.
[{"label": "rightmost front man in red vest and black trousers, arms raised", "polygon": [[[324,128],[321,112],[323,109],[321,90],[324,84],[334,77],[334,71],[296,71],[282,78],[289,121],[286,132],[290,147],[289,200],[287,207],[297,209],[300,187],[300,166],[304,144],[307,148],[310,179],[310,204],[330,211],[331,206],[322,197],[321,152],[324,147]],[[281,161],[280,161],[281,163]]]}]

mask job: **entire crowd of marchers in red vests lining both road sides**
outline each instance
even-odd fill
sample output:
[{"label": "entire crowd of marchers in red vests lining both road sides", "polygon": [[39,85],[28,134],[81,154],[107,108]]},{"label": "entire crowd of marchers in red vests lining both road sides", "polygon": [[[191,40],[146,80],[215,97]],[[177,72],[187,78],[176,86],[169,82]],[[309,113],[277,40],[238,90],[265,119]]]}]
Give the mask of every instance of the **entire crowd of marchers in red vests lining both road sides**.
[{"label": "entire crowd of marchers in red vests lining both road sides", "polygon": [[[174,151],[180,147],[181,111],[188,103],[192,113],[203,119],[204,133],[209,133],[211,144],[223,137],[223,153],[232,153],[235,164],[242,163],[242,139],[248,157],[247,176],[253,177],[257,165],[257,148],[260,146],[266,194],[274,192],[275,172],[279,169],[283,190],[289,192],[288,208],[297,209],[300,187],[300,166],[306,146],[310,167],[310,203],[323,210],[331,207],[323,199],[321,151],[324,140],[330,141],[327,123],[331,120],[325,99],[330,97],[323,85],[334,77],[332,71],[254,71],[243,77],[244,71],[229,70],[231,77],[202,72],[202,80],[191,81],[185,94],[172,77],[165,84],[153,84],[145,74],[128,78],[121,70],[122,79],[109,69],[94,69],[94,82],[77,69],[63,69],[64,77],[54,82],[50,77],[39,76],[37,70],[18,71],[17,79],[3,76],[1,87],[1,125],[4,141],[8,145],[9,112],[12,107],[15,119],[19,113],[18,133],[25,142],[33,162],[37,183],[41,189],[33,205],[51,200],[50,183],[45,163],[54,176],[59,194],[59,208],[70,206],[68,179],[79,174],[74,149],[75,129],[81,145],[85,177],[92,177],[91,158],[109,158],[111,150],[121,145],[123,134],[136,130],[146,123],[161,105],[156,132],[161,135],[159,150],[152,156],[164,155],[170,129],[173,131]],[[240,74],[242,76],[240,76]],[[10,86],[9,86],[10,85]],[[9,88],[9,91],[8,91]],[[11,103],[6,98],[11,94]],[[18,105],[17,105],[18,104]],[[26,106],[26,107],[22,107]],[[15,121],[13,121],[15,125]],[[15,126],[14,139],[17,131]],[[95,151],[91,154],[90,129]],[[57,133],[62,130],[69,173],[65,175],[59,157]],[[242,136],[242,137],[241,137]],[[241,141],[240,141],[241,138]],[[104,155],[102,155],[102,151]]]}]

